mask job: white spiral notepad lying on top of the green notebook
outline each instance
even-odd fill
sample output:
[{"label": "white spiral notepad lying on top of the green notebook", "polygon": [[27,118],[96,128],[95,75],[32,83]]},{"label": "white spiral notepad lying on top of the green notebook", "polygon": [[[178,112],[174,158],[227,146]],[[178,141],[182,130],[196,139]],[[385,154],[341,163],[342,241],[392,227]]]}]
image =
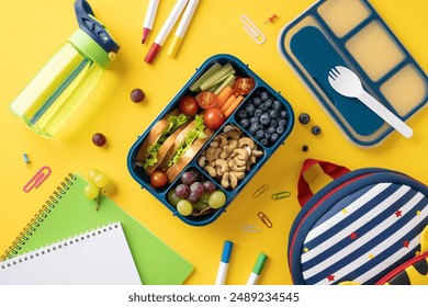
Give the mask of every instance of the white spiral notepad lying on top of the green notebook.
[{"label": "white spiral notepad lying on top of the green notebook", "polygon": [[120,223],[0,262],[3,285],[142,284]]}]

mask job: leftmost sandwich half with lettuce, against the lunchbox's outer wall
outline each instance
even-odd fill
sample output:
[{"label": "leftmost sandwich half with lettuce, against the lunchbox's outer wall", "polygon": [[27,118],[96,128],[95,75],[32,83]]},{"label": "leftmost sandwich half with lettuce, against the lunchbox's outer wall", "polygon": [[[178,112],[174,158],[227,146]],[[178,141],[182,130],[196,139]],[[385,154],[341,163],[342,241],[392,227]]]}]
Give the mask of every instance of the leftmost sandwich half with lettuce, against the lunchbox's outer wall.
[{"label": "leftmost sandwich half with lettuce, against the lunchbox's outer wall", "polygon": [[190,122],[190,117],[181,114],[178,109],[160,118],[143,141],[135,158],[136,166],[142,167],[150,175],[169,152],[177,136]]}]

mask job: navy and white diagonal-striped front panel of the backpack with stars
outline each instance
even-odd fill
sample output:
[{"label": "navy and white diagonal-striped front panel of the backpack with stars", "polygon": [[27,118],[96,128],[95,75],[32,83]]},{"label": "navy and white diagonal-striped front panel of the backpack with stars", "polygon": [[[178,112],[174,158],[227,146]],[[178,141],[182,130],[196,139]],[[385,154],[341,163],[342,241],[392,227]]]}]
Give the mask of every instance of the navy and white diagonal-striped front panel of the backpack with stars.
[{"label": "navy and white diagonal-striped front panel of the backpack with stars", "polygon": [[307,284],[372,284],[418,250],[428,200],[410,186],[378,183],[348,195],[307,234],[302,257]]}]

